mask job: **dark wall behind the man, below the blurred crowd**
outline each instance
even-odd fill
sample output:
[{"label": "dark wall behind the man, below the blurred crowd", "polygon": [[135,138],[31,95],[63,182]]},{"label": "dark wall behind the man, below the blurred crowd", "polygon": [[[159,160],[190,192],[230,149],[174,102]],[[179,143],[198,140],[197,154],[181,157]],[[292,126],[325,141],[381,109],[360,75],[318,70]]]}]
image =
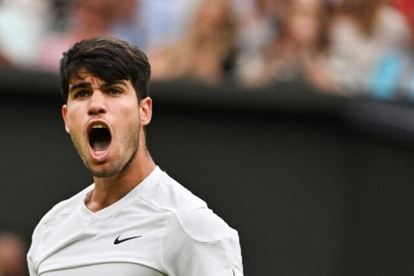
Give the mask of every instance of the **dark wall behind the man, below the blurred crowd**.
[{"label": "dark wall behind the man, below the blurred crowd", "polygon": [[[414,107],[154,83],[156,163],[237,229],[246,276],[413,275]],[[0,231],[30,235],[92,182],[64,131],[59,79],[0,68]]]}]

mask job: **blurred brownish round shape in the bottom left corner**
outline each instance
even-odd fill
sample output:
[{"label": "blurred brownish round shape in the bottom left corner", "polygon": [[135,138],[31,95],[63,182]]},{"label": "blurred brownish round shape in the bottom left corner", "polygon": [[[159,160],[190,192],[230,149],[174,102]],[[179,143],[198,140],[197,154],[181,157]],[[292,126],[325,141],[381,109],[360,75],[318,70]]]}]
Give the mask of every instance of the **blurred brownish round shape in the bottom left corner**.
[{"label": "blurred brownish round shape in the bottom left corner", "polygon": [[0,276],[28,276],[27,245],[14,233],[0,233]]}]

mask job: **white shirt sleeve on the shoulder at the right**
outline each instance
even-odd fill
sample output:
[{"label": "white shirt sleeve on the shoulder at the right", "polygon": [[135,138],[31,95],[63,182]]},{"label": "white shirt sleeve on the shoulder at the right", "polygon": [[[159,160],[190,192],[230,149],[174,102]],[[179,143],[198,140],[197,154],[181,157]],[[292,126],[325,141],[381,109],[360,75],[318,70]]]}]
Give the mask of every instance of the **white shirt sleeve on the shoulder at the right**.
[{"label": "white shirt sleeve on the shoulder at the right", "polygon": [[237,232],[208,209],[171,214],[163,260],[169,276],[243,276]]}]

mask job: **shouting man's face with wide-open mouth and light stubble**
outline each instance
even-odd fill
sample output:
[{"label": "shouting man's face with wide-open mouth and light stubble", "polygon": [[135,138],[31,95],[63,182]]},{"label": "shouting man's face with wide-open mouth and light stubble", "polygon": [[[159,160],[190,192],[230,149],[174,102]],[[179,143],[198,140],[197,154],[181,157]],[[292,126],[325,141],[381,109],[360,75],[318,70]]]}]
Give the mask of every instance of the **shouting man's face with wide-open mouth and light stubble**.
[{"label": "shouting man's face with wide-open mouth and light stubble", "polygon": [[109,84],[86,70],[78,73],[62,106],[66,131],[95,177],[114,176],[138,151],[143,122],[137,94],[130,81]]}]

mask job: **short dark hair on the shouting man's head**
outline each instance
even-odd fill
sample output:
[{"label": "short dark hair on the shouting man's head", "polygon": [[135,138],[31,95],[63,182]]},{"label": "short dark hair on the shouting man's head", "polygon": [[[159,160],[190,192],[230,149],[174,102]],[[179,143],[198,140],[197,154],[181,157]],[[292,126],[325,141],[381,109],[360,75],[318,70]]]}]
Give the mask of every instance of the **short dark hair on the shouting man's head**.
[{"label": "short dark hair on the shouting man's head", "polygon": [[137,46],[111,37],[91,37],[63,53],[60,63],[61,92],[67,103],[69,81],[81,68],[105,82],[130,80],[138,102],[148,96],[151,67]]}]

